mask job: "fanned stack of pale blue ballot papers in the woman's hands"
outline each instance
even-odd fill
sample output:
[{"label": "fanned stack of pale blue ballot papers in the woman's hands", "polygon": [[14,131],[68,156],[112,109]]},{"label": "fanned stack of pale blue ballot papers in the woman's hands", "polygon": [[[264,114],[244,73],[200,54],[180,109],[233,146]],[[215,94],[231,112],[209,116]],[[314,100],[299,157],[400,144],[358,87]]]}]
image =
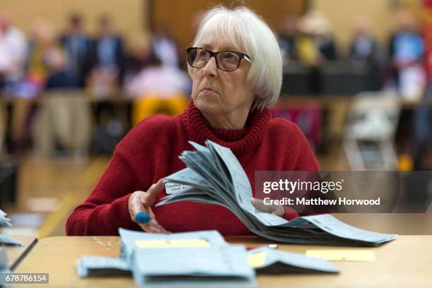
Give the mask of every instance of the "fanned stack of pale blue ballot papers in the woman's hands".
[{"label": "fanned stack of pale blue ballot papers in the woman's hands", "polygon": [[206,146],[189,143],[196,151],[184,151],[179,157],[186,169],[164,179],[167,185],[180,188],[162,198],[157,206],[178,201],[222,205],[234,212],[251,232],[282,243],[378,246],[397,236],[357,229],[328,214],[287,221],[260,212],[251,203],[253,195],[248,177],[229,148],[210,140],[205,142]]}]

